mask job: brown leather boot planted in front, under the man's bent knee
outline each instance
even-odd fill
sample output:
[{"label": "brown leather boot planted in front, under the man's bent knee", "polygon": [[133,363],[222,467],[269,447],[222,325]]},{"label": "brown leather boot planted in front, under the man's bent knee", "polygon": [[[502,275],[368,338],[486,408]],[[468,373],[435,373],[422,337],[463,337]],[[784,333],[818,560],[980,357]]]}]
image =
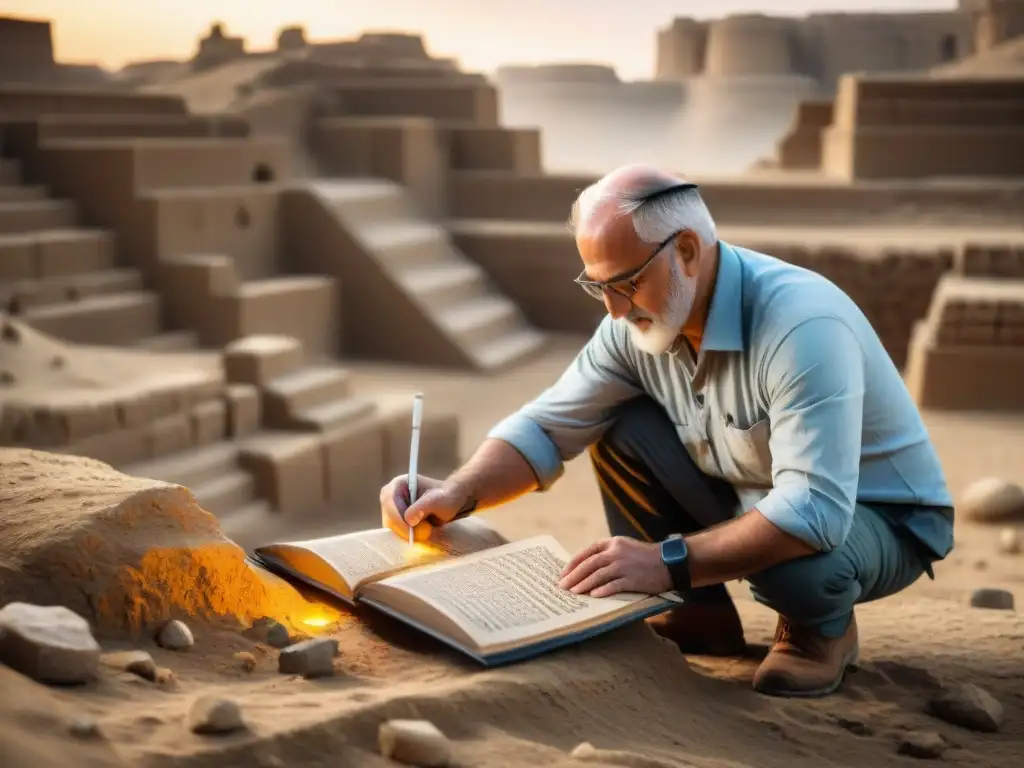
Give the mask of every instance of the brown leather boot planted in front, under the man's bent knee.
[{"label": "brown leather boot planted in front, under the man's bent knee", "polygon": [[824,696],[840,686],[858,651],[852,614],[846,632],[836,638],[779,616],[772,648],[754,674],[754,690],[769,696]]}]

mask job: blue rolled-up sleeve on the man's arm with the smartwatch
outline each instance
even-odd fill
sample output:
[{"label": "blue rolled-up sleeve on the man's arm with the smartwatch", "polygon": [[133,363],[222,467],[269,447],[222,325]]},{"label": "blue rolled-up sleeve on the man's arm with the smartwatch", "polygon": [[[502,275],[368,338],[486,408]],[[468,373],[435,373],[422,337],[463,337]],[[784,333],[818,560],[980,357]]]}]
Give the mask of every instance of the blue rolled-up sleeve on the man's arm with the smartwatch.
[{"label": "blue rolled-up sleeve on the man's arm with the smartwatch", "polygon": [[771,425],[772,490],[757,509],[820,552],[846,540],[860,477],[864,356],[842,321],[793,329],[762,368]]}]

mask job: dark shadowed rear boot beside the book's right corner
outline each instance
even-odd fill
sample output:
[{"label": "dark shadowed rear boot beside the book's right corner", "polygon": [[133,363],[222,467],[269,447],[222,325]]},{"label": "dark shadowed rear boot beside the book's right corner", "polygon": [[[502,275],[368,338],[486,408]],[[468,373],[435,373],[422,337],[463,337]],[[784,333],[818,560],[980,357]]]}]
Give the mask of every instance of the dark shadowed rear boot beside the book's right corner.
[{"label": "dark shadowed rear boot beside the book's right corner", "polygon": [[743,625],[732,600],[682,603],[651,616],[647,624],[683,653],[739,656],[746,650]]}]

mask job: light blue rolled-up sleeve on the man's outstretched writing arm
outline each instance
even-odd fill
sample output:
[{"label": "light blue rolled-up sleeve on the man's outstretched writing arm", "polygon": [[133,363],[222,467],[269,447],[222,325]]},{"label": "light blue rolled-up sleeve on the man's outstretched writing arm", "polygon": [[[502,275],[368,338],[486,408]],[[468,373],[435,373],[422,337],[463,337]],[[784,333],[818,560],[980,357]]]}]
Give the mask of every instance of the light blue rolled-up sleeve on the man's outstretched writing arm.
[{"label": "light blue rolled-up sleeve on the man's outstretched writing arm", "polygon": [[625,331],[605,317],[551,387],[487,433],[522,455],[540,490],[551,487],[565,471],[565,462],[600,438],[615,407],[641,393]]}]

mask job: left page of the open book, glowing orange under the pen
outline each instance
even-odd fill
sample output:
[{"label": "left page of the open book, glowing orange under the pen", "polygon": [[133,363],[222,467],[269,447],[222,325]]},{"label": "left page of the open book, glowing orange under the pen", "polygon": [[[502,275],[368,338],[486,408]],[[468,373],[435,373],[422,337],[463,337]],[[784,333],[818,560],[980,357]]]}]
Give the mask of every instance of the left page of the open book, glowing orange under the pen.
[{"label": "left page of the open book, glowing orange under the pen", "polygon": [[[388,528],[374,528],[326,539],[271,545],[262,547],[261,551],[286,561],[296,560],[288,557],[290,549],[312,552],[336,570],[354,593],[360,584],[387,573],[479,552],[504,543],[504,537],[483,520],[466,517],[435,528],[429,541],[413,545]],[[302,570],[297,562],[293,562],[293,566]]]}]

